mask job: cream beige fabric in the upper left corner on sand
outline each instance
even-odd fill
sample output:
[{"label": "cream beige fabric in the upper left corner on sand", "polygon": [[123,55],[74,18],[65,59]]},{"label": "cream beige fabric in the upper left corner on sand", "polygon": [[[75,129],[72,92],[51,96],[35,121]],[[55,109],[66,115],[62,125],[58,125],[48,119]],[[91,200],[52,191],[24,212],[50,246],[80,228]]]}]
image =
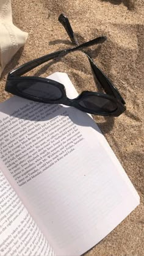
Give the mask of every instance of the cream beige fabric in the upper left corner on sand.
[{"label": "cream beige fabric in the upper left corner on sand", "polygon": [[24,45],[27,36],[12,22],[11,0],[0,0],[0,76],[5,65]]}]

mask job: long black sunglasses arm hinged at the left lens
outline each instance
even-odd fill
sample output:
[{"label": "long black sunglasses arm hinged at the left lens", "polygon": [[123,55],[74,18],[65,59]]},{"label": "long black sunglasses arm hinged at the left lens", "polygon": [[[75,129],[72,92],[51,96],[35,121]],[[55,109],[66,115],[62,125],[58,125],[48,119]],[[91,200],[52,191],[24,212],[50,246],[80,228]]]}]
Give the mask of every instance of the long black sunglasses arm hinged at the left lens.
[{"label": "long black sunglasses arm hinged at the left lens", "polygon": [[90,41],[88,41],[86,43],[82,43],[82,45],[76,46],[74,48],[63,49],[61,51],[56,51],[55,53],[47,54],[47,55],[42,56],[42,57],[40,57],[38,59],[31,60],[31,61],[27,62],[24,65],[21,65],[20,67],[16,68],[15,70],[12,70],[9,75],[10,76],[21,76],[21,75],[24,75],[28,71],[32,70],[35,67],[38,67],[39,65],[41,65],[41,64],[43,64],[43,63],[45,63],[45,62],[47,62],[49,60],[55,59],[56,57],[65,56],[68,53],[71,53],[73,51],[81,50],[81,49],[83,49],[85,47],[92,46],[92,45],[95,45],[97,43],[102,43],[105,40],[106,40],[106,37],[98,37],[98,38],[90,40]]}]

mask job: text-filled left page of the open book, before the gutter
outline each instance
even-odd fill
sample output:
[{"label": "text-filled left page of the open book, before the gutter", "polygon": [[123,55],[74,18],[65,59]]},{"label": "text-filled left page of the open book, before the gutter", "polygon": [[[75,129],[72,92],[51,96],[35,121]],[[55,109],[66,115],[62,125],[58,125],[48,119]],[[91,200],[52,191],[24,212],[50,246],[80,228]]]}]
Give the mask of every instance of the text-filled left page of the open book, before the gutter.
[{"label": "text-filled left page of the open book, before the gutter", "polygon": [[0,169],[0,255],[45,255],[54,251]]}]

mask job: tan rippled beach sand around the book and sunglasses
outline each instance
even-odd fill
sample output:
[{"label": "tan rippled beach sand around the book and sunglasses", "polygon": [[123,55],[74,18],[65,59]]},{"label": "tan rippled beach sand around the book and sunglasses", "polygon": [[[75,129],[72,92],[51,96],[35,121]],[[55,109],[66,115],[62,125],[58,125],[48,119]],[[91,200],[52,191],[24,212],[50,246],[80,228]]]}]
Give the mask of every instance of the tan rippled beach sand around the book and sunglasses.
[{"label": "tan rippled beach sand around the book and sunglasses", "polygon": [[[98,117],[95,122],[126,170],[141,203],[103,241],[87,252],[87,256],[144,255],[144,172],[143,172],[143,0],[13,0],[13,22],[29,38],[23,49],[5,68],[0,81],[0,100],[10,97],[4,91],[7,73],[31,59],[71,46],[59,23],[65,13],[80,42],[100,35],[107,42],[93,46],[89,52],[123,95],[127,111],[120,117]],[[46,77],[54,71],[65,71],[76,89],[96,90],[87,57],[73,53],[29,72]]]}]

